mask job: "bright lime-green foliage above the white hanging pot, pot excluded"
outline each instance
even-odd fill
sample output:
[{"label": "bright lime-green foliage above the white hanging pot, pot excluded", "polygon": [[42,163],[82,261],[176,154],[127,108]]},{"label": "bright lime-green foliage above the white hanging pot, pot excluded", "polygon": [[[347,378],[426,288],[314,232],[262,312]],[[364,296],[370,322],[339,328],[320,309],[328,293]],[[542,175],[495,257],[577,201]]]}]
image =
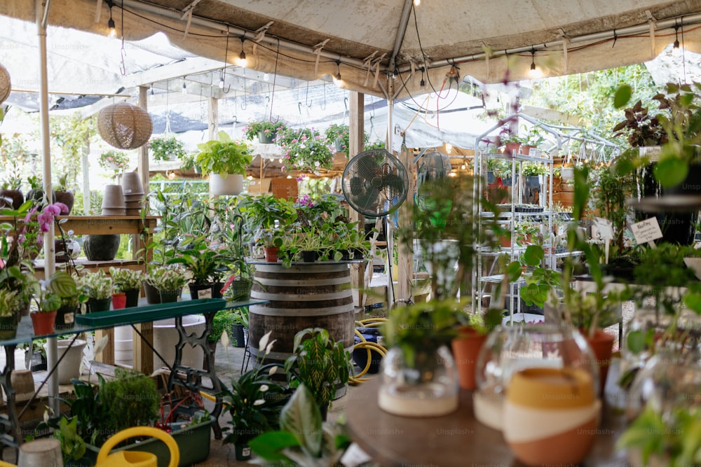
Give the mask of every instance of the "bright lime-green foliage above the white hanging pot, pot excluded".
[{"label": "bright lime-green foliage above the white hanging pot, pot excluded", "polygon": [[219,139],[212,139],[197,145],[200,152],[195,156],[195,163],[203,174],[246,174],[253,156],[248,146],[241,141],[234,141],[224,131],[219,132]]}]

